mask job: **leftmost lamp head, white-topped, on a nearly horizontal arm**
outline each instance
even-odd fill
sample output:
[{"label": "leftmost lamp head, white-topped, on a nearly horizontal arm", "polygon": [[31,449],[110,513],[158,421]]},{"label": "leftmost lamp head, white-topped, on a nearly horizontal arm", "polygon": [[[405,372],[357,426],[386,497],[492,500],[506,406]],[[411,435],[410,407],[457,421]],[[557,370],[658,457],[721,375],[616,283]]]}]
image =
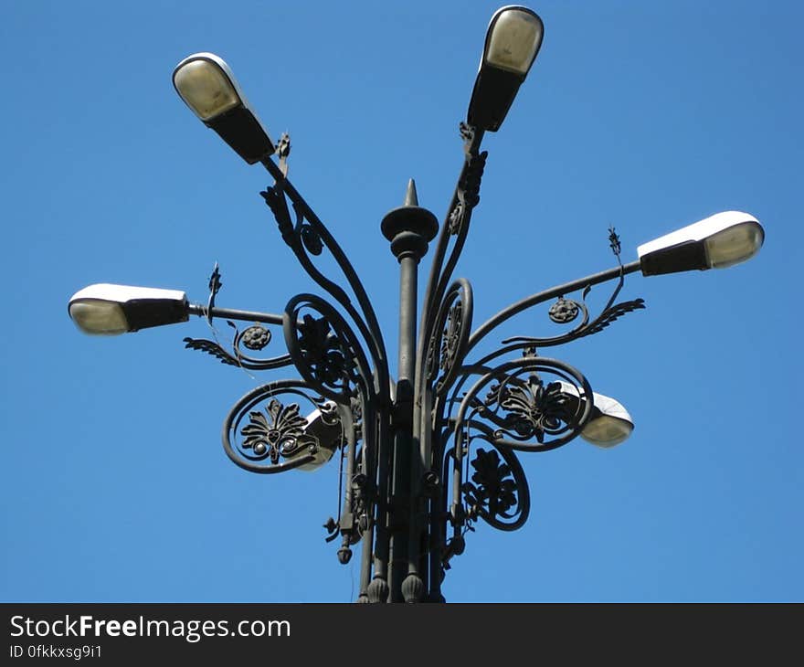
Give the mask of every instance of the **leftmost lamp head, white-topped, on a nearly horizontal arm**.
[{"label": "leftmost lamp head, white-topped, on a nearly horizontal arm", "polygon": [[68,312],[85,334],[116,335],[186,322],[189,303],[183,291],[98,284],[73,294]]}]

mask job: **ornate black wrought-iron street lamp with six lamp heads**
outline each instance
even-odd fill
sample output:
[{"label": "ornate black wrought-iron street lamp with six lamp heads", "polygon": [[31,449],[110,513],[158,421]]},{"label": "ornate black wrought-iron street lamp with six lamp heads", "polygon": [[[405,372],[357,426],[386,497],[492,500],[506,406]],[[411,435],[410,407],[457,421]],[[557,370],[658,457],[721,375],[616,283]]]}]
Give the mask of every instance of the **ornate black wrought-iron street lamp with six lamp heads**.
[{"label": "ornate black wrought-iron street lamp with six lamp heads", "polygon": [[[439,224],[419,206],[410,181],[403,206],[382,220],[399,263],[396,377],[363,283],[288,179],[290,138],[270,141],[231,70],[213,54],[182,60],[175,88],[241,157],[269,172],[273,185],[260,195],[282,240],[328,297],[297,294],[280,313],[220,308],[216,266],[206,303],[188,302],[182,291],[121,285],[93,285],[69,302],[70,317],[90,334],[133,332],[190,315],[225,318],[235,332],[231,349],[189,337],[185,346],[252,371],[294,368],[298,377],[273,379],[238,400],[224,420],[224,450],[259,474],[337,461],[344,489],[337,517],[325,524],[326,539],[340,539],[341,563],[359,548],[360,602],[443,601],[442,578],[473,524],[515,530],[527,520],[530,495],[520,453],[554,450],[578,436],[606,448],[629,437],[634,424],[626,408],[594,392],[577,368],[543,355],[545,348],[597,334],[644,308],[641,299],[618,301],[631,273],[731,266],[756,254],[764,239],[755,217],[727,211],[643,244],[639,259],[623,264],[610,228],[617,260],[611,269],[536,292],[473,326],[471,283],[452,274],[480,200],[487,155],[481,141],[484,132],[499,129],[543,33],[541,19],[525,7],[494,14],[460,123],[464,161],[447,216]],[[428,282],[418,304],[418,265],[430,243]],[[339,279],[318,268],[324,252]],[[608,302],[592,314],[587,294],[606,282],[614,283]],[[576,292],[580,296],[571,296]],[[547,302],[550,320],[564,333],[516,336],[490,353],[478,352],[501,324]],[[269,327],[280,328],[285,348],[273,356],[262,352],[272,338]]]}]

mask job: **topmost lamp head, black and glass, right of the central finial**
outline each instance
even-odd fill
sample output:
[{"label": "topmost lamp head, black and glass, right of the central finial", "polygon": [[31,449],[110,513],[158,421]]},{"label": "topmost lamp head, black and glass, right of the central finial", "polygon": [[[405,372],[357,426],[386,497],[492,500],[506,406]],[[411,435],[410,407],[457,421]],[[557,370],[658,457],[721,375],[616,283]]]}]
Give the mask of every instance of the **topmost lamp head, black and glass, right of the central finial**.
[{"label": "topmost lamp head, black and glass, right of the central finial", "polygon": [[470,125],[490,132],[500,129],[534,64],[544,34],[542,19],[527,7],[504,6],[494,13],[471,92]]}]

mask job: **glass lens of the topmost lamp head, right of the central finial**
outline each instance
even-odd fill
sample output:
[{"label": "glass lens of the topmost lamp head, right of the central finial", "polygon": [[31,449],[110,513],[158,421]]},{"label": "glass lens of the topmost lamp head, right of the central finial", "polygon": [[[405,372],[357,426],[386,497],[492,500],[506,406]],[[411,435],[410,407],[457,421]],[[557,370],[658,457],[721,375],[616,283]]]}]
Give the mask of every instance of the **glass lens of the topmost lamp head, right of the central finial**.
[{"label": "glass lens of the topmost lamp head, right of the central finial", "polygon": [[542,42],[543,27],[532,14],[510,9],[492,26],[486,62],[493,67],[527,74]]}]

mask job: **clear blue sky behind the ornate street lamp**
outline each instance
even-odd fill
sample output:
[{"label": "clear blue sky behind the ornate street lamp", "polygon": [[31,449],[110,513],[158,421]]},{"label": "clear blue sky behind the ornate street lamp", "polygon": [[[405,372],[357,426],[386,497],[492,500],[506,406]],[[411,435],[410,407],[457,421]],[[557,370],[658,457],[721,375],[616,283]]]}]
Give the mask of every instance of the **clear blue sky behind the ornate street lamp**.
[{"label": "clear blue sky behind the ornate street lamp", "polygon": [[[0,5],[0,599],[354,599],[358,559],[339,565],[321,527],[337,511],[336,467],[253,475],[220,445],[230,406],[269,378],[185,351],[184,336],[208,335],[197,318],[93,338],[67,302],[95,282],[203,301],[216,261],[222,306],[280,312],[313,289],[259,196],[268,175],[175,95],[175,64],[213,51],[271,135],[291,132],[291,180],[350,253],[396,350],[397,264],[379,221],[410,177],[443,217],[497,6]],[[545,41],[484,143],[457,270],[474,286],[476,323],[607,269],[609,225],[624,260],[721,210],[754,214],[767,237],[730,270],[631,276],[623,298],[646,311],[550,351],[618,397],[636,429],[615,450],[578,440],[523,455],[529,523],[512,534],[481,524],[445,596],[800,601],[804,8],[530,6]],[[500,338],[545,323],[528,312]]]}]

